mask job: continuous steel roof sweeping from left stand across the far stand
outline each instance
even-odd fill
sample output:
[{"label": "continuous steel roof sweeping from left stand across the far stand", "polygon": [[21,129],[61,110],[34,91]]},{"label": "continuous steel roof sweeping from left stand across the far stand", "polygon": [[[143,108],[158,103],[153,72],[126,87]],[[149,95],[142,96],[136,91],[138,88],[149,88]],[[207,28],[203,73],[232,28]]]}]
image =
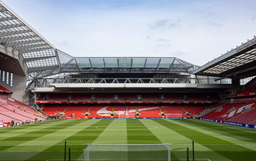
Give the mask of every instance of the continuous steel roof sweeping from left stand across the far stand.
[{"label": "continuous steel roof sweeping from left stand across the far stand", "polygon": [[184,72],[195,66],[178,58],[74,58],[55,49],[44,37],[0,1],[0,43],[23,56],[33,78],[61,72]]}]

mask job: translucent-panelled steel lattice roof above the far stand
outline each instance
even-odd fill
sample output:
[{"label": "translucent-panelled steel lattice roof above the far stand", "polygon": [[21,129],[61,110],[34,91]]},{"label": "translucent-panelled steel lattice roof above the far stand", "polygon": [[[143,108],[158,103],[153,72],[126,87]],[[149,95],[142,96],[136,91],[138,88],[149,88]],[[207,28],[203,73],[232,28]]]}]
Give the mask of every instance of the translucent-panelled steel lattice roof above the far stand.
[{"label": "translucent-panelled steel lattice roof above the far stand", "polygon": [[78,57],[57,50],[62,72],[185,72],[195,66],[178,58]]}]

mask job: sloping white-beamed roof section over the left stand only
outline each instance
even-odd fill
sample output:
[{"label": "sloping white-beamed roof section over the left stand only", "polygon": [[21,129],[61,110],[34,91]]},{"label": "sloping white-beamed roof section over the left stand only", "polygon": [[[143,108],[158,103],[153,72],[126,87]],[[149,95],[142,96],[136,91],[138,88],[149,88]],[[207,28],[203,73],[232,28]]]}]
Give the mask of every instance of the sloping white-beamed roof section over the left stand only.
[{"label": "sloping white-beamed roof section over the left stand only", "polygon": [[1,1],[0,44],[22,55],[28,72],[58,67],[55,47]]}]

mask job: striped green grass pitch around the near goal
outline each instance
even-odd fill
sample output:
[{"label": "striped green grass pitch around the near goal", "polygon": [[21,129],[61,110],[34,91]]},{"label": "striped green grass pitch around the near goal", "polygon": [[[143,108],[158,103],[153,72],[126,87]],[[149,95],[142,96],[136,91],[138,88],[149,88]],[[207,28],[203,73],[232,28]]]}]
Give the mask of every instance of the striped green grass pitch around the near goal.
[{"label": "striped green grass pitch around the near goal", "polygon": [[187,147],[192,159],[192,140],[195,161],[256,160],[256,129],[195,119],[92,119],[2,128],[0,161],[61,161],[65,141],[67,160],[69,148],[71,160],[83,160],[87,144],[170,144],[171,159],[184,161]]}]

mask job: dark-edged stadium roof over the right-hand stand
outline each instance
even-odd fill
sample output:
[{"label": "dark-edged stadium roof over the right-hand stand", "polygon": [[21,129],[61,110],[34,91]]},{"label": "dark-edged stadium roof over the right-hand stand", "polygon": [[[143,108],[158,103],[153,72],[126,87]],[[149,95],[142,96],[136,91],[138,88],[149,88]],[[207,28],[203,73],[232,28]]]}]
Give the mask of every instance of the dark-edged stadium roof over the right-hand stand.
[{"label": "dark-edged stadium roof over the right-hand stand", "polygon": [[193,74],[244,78],[256,74],[256,37],[196,69]]}]

